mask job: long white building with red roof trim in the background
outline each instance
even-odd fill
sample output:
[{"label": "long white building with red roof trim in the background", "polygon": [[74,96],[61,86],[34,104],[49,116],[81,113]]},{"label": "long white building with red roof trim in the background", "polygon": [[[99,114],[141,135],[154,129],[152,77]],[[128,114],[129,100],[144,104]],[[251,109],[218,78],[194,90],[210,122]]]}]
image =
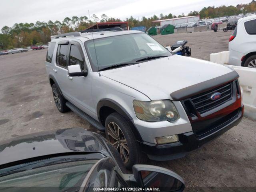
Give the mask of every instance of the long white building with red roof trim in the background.
[{"label": "long white building with red roof trim in the background", "polygon": [[152,22],[160,22],[160,26],[164,26],[165,24],[182,24],[182,23],[188,23],[188,22],[196,22],[200,20],[200,16],[188,16],[188,17],[180,17],[180,18],[172,18],[172,19],[163,19],[163,20],[156,20]]}]

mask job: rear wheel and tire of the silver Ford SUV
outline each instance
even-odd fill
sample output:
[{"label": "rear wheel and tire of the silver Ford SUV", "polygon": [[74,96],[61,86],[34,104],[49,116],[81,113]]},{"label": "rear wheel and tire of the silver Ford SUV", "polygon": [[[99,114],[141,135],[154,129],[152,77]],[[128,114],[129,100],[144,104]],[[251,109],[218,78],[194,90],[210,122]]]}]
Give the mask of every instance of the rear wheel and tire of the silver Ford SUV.
[{"label": "rear wheel and tire of the silver Ford SUV", "polygon": [[70,109],[66,106],[67,100],[60,94],[59,89],[55,84],[52,85],[52,95],[57,109],[61,113],[68,112]]}]

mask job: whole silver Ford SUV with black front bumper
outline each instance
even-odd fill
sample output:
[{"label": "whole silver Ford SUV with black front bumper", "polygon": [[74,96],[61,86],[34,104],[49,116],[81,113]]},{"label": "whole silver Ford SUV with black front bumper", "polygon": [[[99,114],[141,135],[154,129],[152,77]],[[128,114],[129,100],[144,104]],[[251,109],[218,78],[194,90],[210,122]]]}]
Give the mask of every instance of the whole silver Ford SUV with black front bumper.
[{"label": "whole silver Ford SUV with black front bumper", "polygon": [[235,71],[172,54],[143,32],[60,34],[45,64],[58,110],[105,131],[128,168],[183,157],[243,115]]}]

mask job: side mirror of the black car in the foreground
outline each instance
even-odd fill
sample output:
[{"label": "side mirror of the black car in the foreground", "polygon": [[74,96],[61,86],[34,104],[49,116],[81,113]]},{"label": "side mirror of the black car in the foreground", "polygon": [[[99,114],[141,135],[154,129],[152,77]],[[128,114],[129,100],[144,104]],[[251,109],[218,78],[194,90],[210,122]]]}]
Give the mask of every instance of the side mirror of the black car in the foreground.
[{"label": "side mirror of the black car in the foreground", "polygon": [[182,192],[185,188],[184,180],[175,172],[166,168],[152,165],[134,165],[130,182],[141,186],[146,191]]}]

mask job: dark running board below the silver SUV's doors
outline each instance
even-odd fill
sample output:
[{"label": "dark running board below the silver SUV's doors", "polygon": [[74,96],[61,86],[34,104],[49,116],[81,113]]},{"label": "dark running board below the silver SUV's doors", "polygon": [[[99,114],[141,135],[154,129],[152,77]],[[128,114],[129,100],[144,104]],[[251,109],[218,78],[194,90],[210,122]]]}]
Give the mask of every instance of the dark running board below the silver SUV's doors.
[{"label": "dark running board below the silver SUV's doors", "polygon": [[76,106],[74,106],[70,102],[66,102],[66,106],[70,108],[73,112],[78,114],[82,119],[88,121],[90,124],[92,124],[94,127],[96,127],[100,131],[105,131],[104,126],[102,126],[98,121],[96,121],[94,118],[83,112],[82,110],[78,109]]}]

